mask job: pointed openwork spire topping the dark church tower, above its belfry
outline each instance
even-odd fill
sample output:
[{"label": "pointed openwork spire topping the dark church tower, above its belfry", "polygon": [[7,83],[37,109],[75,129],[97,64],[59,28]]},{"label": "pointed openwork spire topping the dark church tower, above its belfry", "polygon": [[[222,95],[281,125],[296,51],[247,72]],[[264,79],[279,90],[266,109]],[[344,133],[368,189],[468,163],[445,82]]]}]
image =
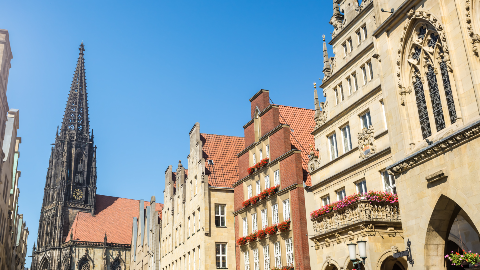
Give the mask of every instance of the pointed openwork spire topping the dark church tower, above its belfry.
[{"label": "pointed openwork spire topping the dark church tower, above its belfry", "polygon": [[85,82],[84,43],[80,44],[80,50],[75,73],[73,74],[72,86],[68,95],[65,114],[61,126],[61,136],[70,133],[72,136],[88,137],[88,101]]}]

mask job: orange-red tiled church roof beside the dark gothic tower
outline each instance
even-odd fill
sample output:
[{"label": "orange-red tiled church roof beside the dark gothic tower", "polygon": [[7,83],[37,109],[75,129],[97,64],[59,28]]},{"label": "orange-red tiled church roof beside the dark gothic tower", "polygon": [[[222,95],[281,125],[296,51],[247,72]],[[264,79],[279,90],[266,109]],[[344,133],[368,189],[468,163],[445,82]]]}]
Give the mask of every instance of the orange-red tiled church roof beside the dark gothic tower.
[{"label": "orange-red tiled church roof beside the dark gothic tower", "polygon": [[[115,244],[132,243],[132,218],[138,218],[139,200],[132,200],[120,197],[96,195],[95,217],[90,213],[77,212],[73,221],[73,232],[69,232],[67,240],[70,240],[70,233],[73,233],[73,240],[103,242],[107,232],[107,242]],[[150,202],[144,202],[144,208]],[[156,203],[155,209],[162,218],[163,204]]]}]

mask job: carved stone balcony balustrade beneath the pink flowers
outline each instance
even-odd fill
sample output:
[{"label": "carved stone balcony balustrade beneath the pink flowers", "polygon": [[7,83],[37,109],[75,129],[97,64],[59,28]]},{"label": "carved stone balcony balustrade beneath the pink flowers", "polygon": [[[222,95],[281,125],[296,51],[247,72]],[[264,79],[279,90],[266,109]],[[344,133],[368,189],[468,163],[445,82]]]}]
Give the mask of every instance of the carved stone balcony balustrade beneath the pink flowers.
[{"label": "carved stone balcony balustrade beneath the pink flowers", "polygon": [[357,201],[345,208],[313,218],[315,235],[335,231],[361,221],[401,222],[398,203]]}]

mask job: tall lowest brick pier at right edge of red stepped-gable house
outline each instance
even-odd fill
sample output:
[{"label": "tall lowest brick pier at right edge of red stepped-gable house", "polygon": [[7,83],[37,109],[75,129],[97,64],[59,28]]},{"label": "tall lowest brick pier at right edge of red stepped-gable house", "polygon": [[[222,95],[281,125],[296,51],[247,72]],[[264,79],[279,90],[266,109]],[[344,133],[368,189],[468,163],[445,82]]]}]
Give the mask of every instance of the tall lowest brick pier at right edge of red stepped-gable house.
[{"label": "tall lowest brick pier at right edge of red stepped-gable house", "polygon": [[[299,154],[300,156],[300,154]],[[300,174],[301,178],[301,174]],[[299,270],[310,270],[310,254],[307,232],[307,215],[305,211],[305,196],[303,188],[298,187],[290,191],[290,205],[295,206],[291,213],[291,229],[293,233],[293,253],[295,266],[300,264]]]}]

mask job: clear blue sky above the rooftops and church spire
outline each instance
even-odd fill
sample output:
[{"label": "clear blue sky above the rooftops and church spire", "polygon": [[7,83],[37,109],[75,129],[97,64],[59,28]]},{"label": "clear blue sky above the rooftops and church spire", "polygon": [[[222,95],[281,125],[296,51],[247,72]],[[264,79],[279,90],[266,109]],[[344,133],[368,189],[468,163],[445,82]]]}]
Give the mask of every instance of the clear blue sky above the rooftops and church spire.
[{"label": "clear blue sky above the rooftops and church spire", "polygon": [[2,3],[28,255],[82,40],[97,193],[163,201],[164,172],[186,160],[195,122],[202,133],[243,136],[248,99],[262,88],[276,104],[313,109],[331,16],[331,1],[318,0]]}]

